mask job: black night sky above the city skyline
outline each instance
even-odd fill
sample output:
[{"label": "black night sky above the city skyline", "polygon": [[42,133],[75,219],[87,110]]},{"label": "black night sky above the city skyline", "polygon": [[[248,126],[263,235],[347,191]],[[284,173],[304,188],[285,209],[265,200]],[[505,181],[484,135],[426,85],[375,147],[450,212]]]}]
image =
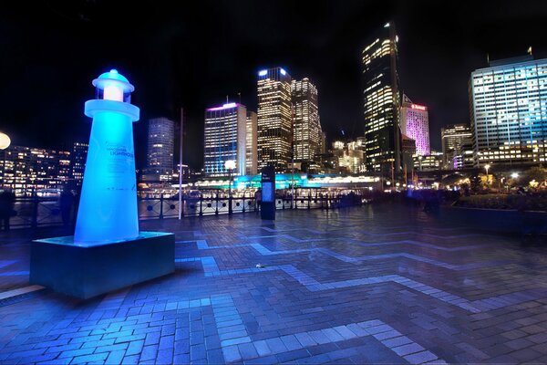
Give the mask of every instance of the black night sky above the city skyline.
[{"label": "black night sky above the city skyline", "polygon": [[538,1],[3,1],[0,130],[15,145],[69,148],[88,141],[91,80],[117,68],[135,85],[138,164],[146,120],[185,114],[185,162],[201,168],[207,107],[256,110],[256,78],[281,66],[311,78],[329,141],[363,134],[360,55],[394,20],[401,89],[440,128],[469,122],[470,72],[490,59],[547,57],[547,4]]}]

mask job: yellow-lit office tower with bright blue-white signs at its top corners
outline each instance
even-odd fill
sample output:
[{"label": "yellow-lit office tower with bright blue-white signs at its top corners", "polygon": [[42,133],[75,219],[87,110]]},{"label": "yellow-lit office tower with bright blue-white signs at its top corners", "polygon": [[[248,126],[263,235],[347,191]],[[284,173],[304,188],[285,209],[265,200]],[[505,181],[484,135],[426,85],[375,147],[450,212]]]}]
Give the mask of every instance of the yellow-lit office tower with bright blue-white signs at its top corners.
[{"label": "yellow-lit office tower with bright blue-white signs at its top corners", "polygon": [[288,171],[293,143],[291,76],[283,68],[258,73],[258,168]]}]

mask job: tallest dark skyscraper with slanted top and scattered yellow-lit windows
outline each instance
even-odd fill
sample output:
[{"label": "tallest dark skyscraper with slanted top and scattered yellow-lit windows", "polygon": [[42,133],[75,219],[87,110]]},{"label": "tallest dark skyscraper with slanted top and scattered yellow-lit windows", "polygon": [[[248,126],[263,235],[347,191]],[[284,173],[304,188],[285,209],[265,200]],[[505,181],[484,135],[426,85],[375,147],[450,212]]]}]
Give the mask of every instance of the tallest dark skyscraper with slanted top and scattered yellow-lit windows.
[{"label": "tallest dark skyscraper with slanted top and scattered yellow-lit windows", "polygon": [[368,171],[400,172],[397,40],[395,25],[387,23],[362,53]]}]

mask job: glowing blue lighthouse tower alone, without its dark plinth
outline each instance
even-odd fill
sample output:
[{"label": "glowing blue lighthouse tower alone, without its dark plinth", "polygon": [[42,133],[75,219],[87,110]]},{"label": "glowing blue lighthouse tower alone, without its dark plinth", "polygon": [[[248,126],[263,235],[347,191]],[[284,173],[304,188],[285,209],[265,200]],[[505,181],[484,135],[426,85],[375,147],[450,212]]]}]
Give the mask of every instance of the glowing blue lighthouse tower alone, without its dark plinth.
[{"label": "glowing blue lighthouse tower alone, without its dark plinth", "polygon": [[93,80],[96,99],[86,102],[93,118],[88,160],[77,211],[76,244],[134,239],[139,236],[133,121],[135,89],[115,69]]}]

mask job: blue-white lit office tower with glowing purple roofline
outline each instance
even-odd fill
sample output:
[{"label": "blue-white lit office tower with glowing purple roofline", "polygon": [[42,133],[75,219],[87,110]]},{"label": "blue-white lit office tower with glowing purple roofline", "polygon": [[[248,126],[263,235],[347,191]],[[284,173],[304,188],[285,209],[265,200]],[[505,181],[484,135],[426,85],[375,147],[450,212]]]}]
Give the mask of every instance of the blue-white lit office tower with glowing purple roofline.
[{"label": "blue-white lit office tower with glowing purple roofline", "polygon": [[[247,108],[229,103],[205,110],[205,158],[203,174],[208,177],[245,174]],[[235,171],[225,162],[235,161]]]}]

